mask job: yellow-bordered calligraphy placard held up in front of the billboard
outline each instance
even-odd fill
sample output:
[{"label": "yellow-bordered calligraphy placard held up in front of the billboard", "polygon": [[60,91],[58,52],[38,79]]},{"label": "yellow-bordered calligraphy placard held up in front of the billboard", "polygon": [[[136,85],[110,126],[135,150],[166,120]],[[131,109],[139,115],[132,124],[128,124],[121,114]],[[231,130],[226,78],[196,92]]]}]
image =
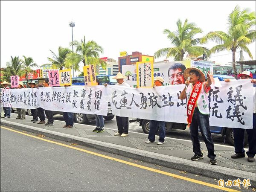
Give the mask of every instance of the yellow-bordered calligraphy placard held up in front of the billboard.
[{"label": "yellow-bordered calligraphy placard held up in front of the billboard", "polygon": [[137,67],[137,87],[153,87],[153,61],[136,62]]}]

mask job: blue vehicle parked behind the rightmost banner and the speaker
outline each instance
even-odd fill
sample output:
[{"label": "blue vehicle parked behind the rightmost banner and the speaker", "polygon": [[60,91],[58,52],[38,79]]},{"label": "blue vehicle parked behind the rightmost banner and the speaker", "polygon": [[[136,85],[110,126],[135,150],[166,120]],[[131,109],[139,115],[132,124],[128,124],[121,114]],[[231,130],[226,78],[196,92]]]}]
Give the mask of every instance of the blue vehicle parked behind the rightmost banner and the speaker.
[{"label": "blue vehicle parked behind the rightmost banner and the speaker", "polygon": [[[213,77],[218,77],[220,81],[224,81],[224,79],[230,79],[230,81],[236,81],[236,78],[232,76],[226,76],[226,75],[213,75]],[[129,122],[140,122],[140,126],[142,126],[143,132],[145,134],[149,134],[149,120],[148,119],[132,119]],[[172,129],[181,129],[185,130],[187,124],[185,123],[176,123],[176,122],[166,122],[166,131],[171,131]],[[200,129],[198,128],[198,131]],[[216,126],[210,126],[210,132],[215,134],[221,134],[221,136],[225,136],[228,143],[231,145],[234,145],[234,134],[232,128],[227,127],[216,127]],[[248,144],[248,136],[247,132],[244,133],[244,146]]]}]

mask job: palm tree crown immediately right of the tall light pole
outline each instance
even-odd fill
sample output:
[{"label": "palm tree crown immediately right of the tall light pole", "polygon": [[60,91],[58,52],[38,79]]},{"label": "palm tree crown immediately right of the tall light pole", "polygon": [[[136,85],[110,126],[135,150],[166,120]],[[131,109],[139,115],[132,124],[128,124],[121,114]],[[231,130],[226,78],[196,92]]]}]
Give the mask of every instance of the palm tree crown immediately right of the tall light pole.
[{"label": "palm tree crown immediately right of the tall light pole", "polygon": [[103,69],[106,69],[107,63],[99,58],[99,53],[103,52],[101,46],[99,46],[95,41],[85,41],[81,39],[81,41],[73,41],[70,43],[76,47],[76,52],[72,52],[68,54],[65,64],[67,66],[72,66],[74,64],[74,69],[79,71],[79,63],[83,62],[84,66],[93,64],[93,65],[101,65]]}]

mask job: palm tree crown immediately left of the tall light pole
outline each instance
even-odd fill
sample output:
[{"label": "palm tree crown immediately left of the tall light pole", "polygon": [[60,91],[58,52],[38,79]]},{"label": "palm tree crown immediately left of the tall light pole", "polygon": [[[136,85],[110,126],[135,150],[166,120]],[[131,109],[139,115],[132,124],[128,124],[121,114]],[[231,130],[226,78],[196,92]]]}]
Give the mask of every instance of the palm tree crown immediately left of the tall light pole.
[{"label": "palm tree crown immediately left of the tall light pole", "polygon": [[[67,57],[67,54],[71,53],[72,51],[68,48],[62,48],[61,46],[58,47],[58,55],[56,55],[52,50],[52,58],[47,57],[48,61],[50,61],[50,65],[52,65],[52,68],[54,69],[60,69],[63,70],[63,68],[69,68],[69,66],[65,66],[65,59]],[[48,66],[49,64],[43,64],[41,67]]]}]

